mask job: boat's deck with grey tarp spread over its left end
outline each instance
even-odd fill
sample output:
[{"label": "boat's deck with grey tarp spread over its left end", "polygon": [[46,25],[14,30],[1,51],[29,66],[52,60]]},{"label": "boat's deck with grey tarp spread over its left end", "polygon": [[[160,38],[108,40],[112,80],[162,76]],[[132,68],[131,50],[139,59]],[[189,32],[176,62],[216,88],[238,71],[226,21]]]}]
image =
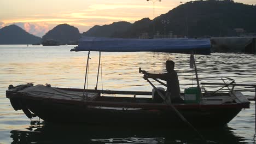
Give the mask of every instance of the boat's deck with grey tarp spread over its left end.
[{"label": "boat's deck with grey tarp spread over its left end", "polygon": [[[13,93],[12,89],[7,91]],[[152,100],[151,92],[122,92],[121,91],[104,91],[104,97],[101,97],[102,91],[96,90],[86,90],[83,89],[74,89],[74,88],[53,88],[43,85],[31,86],[20,91],[16,92],[17,94],[22,94],[23,97],[30,99],[52,99],[52,100],[65,100],[69,102],[75,101],[109,101],[112,103],[139,103],[139,104],[157,104]],[[112,94],[106,97],[106,93]],[[115,93],[118,94],[126,94],[126,96],[130,97],[118,97],[113,96]],[[131,95],[133,93],[133,95]],[[143,97],[136,97],[136,94],[143,95]],[[123,95],[121,95],[123,96]],[[238,97],[236,97],[238,96]],[[240,96],[240,97],[239,97]],[[8,97],[15,97],[15,94],[8,95]],[[181,96],[184,99],[184,95]],[[219,104],[231,104],[231,103],[244,103],[249,102],[247,99],[241,99],[241,93],[235,92],[235,95],[230,95],[226,93],[226,95],[221,94],[221,96],[214,97],[203,97],[201,101],[201,105],[219,105]],[[158,103],[161,104],[161,103]],[[184,104],[184,103],[182,103]]]}]

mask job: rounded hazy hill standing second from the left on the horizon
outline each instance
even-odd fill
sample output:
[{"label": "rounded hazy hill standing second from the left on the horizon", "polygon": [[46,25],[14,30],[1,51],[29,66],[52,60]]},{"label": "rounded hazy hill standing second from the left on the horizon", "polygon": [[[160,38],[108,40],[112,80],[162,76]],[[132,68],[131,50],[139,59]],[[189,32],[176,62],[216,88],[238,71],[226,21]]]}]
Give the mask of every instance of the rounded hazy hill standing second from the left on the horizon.
[{"label": "rounded hazy hill standing second from the left on the horizon", "polygon": [[42,41],[56,41],[59,44],[77,44],[80,39],[81,34],[78,31],[78,28],[70,26],[67,24],[57,25],[46,33]]}]

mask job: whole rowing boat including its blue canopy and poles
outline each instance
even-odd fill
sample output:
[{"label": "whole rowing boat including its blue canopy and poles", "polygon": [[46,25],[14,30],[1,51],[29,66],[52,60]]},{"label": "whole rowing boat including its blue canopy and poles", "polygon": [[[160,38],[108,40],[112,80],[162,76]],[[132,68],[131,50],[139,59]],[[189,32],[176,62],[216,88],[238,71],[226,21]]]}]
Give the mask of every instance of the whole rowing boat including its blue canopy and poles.
[{"label": "whole rowing boat including its blue canopy and poles", "polygon": [[[157,47],[156,47],[157,46]],[[136,47],[136,49],[135,49]],[[116,39],[88,38],[80,40],[71,51],[99,51],[99,67],[102,51],[154,51],[188,53],[195,69],[197,87],[187,88],[181,97],[184,103],[167,103],[162,88],[152,85],[151,92],[110,91],[86,89],[86,76],[83,89],[51,87],[51,85],[10,85],[6,91],[14,110],[22,110],[28,118],[36,117],[50,123],[86,123],[95,125],[136,125],[146,127],[223,127],[242,109],[248,109],[249,100],[235,91],[235,81],[223,83],[229,92],[202,91],[197,75],[194,55],[210,54],[210,39]],[[139,72],[141,72],[139,68]],[[163,86],[165,83],[158,79]],[[98,77],[97,77],[98,81]],[[207,83],[205,83],[207,84]],[[213,85],[214,83],[211,83]],[[120,97],[106,94],[123,95]],[[131,95],[127,97],[127,95]],[[143,97],[141,97],[143,96]]]}]

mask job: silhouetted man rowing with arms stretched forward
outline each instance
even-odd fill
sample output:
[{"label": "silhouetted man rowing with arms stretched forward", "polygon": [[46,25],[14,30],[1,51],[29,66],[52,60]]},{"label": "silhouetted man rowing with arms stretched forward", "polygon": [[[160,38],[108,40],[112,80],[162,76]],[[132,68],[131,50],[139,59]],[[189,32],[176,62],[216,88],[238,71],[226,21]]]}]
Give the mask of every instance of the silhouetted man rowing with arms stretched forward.
[{"label": "silhouetted man rowing with arms stretched forward", "polygon": [[181,90],[179,88],[179,80],[176,71],[174,70],[174,62],[166,61],[166,70],[167,73],[162,74],[151,74],[147,73],[147,71],[142,71],[144,74],[144,79],[148,78],[153,79],[161,79],[166,81],[167,89],[166,89],[166,98],[171,100],[171,103],[183,103],[183,99],[181,99]]}]

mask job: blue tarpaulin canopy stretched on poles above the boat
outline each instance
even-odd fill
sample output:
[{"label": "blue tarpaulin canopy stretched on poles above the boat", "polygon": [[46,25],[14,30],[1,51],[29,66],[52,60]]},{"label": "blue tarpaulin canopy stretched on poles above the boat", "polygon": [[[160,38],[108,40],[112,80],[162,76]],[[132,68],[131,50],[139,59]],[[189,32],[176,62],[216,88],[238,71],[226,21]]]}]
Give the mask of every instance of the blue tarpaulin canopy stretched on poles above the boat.
[{"label": "blue tarpaulin canopy stretched on poles above the boat", "polygon": [[82,37],[71,51],[173,52],[210,55],[210,39],[123,39]]}]

